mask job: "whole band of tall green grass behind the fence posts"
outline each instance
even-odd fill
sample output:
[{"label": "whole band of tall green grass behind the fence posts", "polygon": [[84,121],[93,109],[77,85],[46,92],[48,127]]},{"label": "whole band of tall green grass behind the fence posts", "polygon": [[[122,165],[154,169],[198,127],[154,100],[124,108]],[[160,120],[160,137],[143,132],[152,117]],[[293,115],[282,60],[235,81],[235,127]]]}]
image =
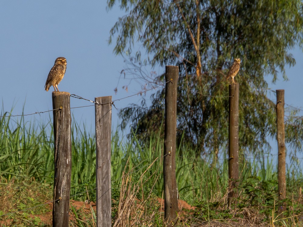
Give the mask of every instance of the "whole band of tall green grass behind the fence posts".
[{"label": "whole band of tall green grass behind the fence posts", "polygon": [[[53,184],[53,131],[52,121],[43,124],[27,122],[24,117],[0,118],[0,183],[12,178],[32,179]],[[145,143],[139,143],[135,133],[130,140],[119,136],[118,130],[112,135],[112,195],[119,194],[122,174],[132,170],[133,180],[139,180],[145,173],[144,193],[161,197],[163,190],[163,140],[155,135]],[[212,168],[212,160],[197,157],[197,151],[183,143],[178,146],[176,156],[176,178],[179,197],[190,204],[201,201],[223,201],[227,193],[228,163],[219,160]],[[182,156],[181,156],[182,155]],[[85,200],[86,189],[89,197],[95,196],[95,133],[72,124],[72,199]],[[240,158],[240,183],[248,179],[262,181],[277,180],[276,168],[270,159],[265,162]],[[302,166],[296,166],[287,172],[289,193],[298,190],[302,183]],[[275,184],[274,184],[275,185]],[[244,189],[243,189],[244,190]],[[140,196],[140,195],[138,195]]]}]

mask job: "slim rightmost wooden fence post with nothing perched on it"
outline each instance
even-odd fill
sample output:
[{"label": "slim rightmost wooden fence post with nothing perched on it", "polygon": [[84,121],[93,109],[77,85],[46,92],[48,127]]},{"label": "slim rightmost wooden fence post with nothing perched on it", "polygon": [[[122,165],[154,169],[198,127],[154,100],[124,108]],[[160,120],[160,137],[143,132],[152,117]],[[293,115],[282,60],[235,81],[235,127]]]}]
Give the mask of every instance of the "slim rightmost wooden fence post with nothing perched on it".
[{"label": "slim rightmost wooden fence post with nothing perched on it", "polygon": [[[284,90],[277,93],[277,142],[278,142],[278,196],[279,200],[286,199],[286,170],[285,170],[285,128],[284,128]],[[286,210],[285,204],[279,206],[279,213]]]}]

